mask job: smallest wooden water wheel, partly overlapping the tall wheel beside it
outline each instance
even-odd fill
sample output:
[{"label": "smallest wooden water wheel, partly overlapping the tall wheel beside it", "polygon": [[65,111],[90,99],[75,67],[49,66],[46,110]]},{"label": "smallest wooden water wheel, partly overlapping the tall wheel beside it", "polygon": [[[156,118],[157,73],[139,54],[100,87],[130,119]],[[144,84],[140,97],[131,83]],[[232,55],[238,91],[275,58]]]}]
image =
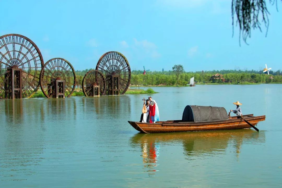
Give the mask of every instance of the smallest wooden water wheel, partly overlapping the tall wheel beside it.
[{"label": "smallest wooden water wheel, partly overlapping the tall wheel beside it", "polygon": [[82,80],[82,91],[85,96],[100,96],[106,93],[106,80],[98,70],[88,71]]}]

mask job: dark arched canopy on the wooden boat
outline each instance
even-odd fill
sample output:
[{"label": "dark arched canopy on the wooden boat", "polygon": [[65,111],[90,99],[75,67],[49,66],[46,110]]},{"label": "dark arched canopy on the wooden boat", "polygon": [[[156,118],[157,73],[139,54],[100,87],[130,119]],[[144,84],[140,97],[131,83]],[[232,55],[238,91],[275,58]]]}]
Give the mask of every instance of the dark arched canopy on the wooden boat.
[{"label": "dark arched canopy on the wooden boat", "polygon": [[182,121],[205,122],[228,120],[223,107],[187,105],[183,111]]}]

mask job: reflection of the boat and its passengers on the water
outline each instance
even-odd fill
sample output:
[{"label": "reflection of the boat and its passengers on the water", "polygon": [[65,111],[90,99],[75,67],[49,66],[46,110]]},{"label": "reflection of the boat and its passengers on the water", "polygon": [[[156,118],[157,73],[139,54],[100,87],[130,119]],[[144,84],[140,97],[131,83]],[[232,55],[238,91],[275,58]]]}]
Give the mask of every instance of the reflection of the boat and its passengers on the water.
[{"label": "reflection of the boat and its passengers on the water", "polygon": [[265,142],[265,132],[259,133],[252,129],[230,131],[202,131],[202,132],[175,132],[142,134],[138,133],[131,138],[131,146],[140,147],[144,167],[150,175],[157,170],[158,157],[162,146],[182,146],[187,160],[196,160],[224,154],[227,148],[233,150],[239,158],[243,144],[259,144]]}]

